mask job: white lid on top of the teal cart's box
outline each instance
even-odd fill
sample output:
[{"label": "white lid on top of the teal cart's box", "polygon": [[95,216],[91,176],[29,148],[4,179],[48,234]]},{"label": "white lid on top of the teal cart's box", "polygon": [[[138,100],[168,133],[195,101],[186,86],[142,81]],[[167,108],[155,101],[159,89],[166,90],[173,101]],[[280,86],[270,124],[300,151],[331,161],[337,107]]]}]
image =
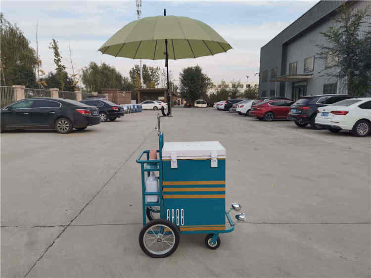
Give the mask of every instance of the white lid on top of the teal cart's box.
[{"label": "white lid on top of the teal cart's box", "polygon": [[226,149],[219,141],[201,141],[201,142],[165,142],[162,148],[162,157],[171,158],[175,153],[178,159],[211,157],[211,152],[217,154],[220,158],[226,157]]}]

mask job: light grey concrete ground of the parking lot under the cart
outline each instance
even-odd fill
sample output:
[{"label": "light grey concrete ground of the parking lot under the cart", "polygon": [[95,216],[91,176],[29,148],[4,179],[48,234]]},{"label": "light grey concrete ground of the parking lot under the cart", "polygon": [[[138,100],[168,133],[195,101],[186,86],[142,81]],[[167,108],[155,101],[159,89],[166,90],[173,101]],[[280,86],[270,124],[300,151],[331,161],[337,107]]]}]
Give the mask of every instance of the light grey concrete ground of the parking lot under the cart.
[{"label": "light grey concrete ground of the parking lot under the cart", "polygon": [[1,277],[371,277],[371,137],[176,108],[165,141],[219,140],[227,204],[247,223],[209,250],[204,234],[177,251],[140,249],[140,171],[157,145],[154,111],[83,132],[1,135]]}]

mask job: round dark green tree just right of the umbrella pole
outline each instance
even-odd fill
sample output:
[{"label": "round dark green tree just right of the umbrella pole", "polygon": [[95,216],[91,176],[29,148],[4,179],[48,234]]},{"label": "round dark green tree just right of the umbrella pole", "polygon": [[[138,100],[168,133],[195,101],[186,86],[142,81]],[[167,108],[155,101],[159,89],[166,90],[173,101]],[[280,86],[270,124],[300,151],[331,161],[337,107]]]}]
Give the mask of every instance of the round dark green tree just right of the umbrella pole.
[{"label": "round dark green tree just right of the umbrella pole", "polygon": [[213,86],[211,79],[202,72],[200,66],[184,68],[179,74],[180,94],[187,102],[206,99],[206,92]]}]

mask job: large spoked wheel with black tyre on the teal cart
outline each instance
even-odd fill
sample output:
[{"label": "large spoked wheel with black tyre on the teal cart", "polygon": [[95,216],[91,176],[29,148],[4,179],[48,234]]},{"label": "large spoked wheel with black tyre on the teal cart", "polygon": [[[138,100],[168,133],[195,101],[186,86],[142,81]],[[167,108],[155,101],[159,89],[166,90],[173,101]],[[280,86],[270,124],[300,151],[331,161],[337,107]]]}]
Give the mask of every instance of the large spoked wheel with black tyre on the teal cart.
[{"label": "large spoked wheel with black tyre on the teal cart", "polygon": [[156,219],[148,222],[139,233],[139,245],[152,258],[165,258],[177,250],[180,235],[170,221]]}]

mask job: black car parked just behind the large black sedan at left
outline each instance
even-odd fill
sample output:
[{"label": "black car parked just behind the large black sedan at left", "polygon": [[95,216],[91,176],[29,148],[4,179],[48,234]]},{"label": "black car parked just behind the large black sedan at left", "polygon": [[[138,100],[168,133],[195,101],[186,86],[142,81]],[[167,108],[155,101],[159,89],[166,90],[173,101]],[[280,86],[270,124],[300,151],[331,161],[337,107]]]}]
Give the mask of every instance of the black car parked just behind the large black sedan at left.
[{"label": "black car parked just behind the large black sedan at left", "polygon": [[106,98],[86,98],[80,102],[98,108],[101,122],[114,121],[125,115],[124,108],[121,105],[115,104]]}]

